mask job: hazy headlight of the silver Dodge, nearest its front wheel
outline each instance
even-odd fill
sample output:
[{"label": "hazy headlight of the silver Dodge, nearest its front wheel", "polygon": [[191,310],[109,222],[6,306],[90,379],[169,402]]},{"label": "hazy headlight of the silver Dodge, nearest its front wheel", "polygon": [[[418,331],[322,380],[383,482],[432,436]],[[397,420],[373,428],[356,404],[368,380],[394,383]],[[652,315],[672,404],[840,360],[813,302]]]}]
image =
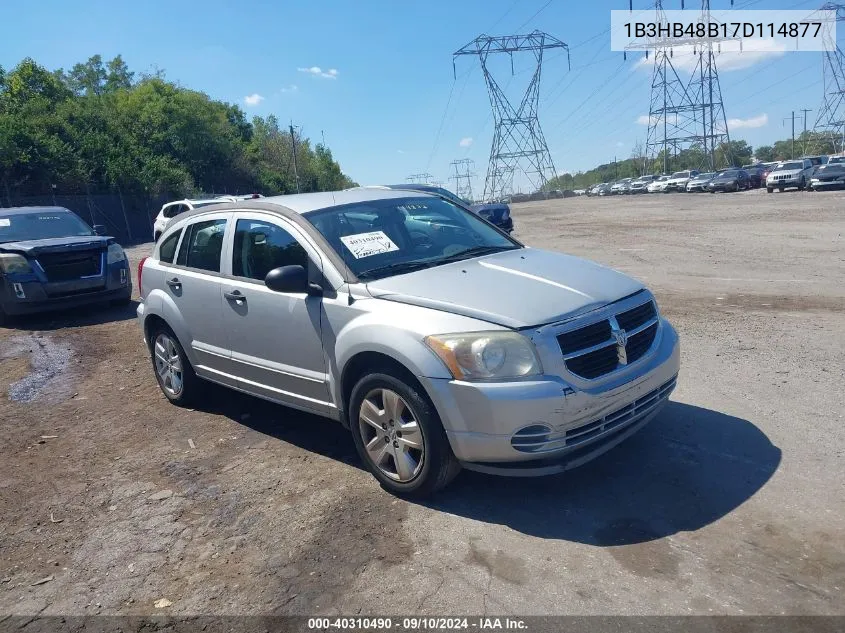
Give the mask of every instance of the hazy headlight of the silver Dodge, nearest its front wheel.
[{"label": "hazy headlight of the silver Dodge, nearest its front wheel", "polygon": [[459,380],[522,378],[541,372],[534,345],[517,332],[467,332],[425,337]]}]

